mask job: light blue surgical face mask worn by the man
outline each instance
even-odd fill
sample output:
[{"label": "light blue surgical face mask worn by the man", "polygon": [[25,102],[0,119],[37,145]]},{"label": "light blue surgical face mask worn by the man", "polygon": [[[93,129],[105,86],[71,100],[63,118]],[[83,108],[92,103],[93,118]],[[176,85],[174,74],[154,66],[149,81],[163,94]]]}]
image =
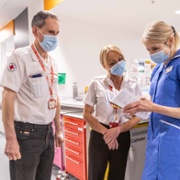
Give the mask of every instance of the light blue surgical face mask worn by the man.
[{"label": "light blue surgical face mask worn by the man", "polygon": [[56,49],[56,47],[58,45],[57,36],[45,35],[42,32],[41,32],[41,34],[43,35],[43,41],[39,42],[39,44],[42,47],[42,49],[46,52],[50,52],[50,51],[53,51],[54,49]]}]

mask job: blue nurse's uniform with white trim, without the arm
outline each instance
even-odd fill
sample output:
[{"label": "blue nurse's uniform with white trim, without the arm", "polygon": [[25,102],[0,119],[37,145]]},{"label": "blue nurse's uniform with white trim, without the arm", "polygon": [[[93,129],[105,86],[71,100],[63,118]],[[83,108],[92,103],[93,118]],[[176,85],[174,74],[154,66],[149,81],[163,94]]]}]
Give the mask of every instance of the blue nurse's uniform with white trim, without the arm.
[{"label": "blue nurse's uniform with white trim, without the arm", "polygon": [[[151,76],[150,95],[156,104],[180,108],[180,50]],[[180,119],[151,113],[143,180],[180,180]]]}]

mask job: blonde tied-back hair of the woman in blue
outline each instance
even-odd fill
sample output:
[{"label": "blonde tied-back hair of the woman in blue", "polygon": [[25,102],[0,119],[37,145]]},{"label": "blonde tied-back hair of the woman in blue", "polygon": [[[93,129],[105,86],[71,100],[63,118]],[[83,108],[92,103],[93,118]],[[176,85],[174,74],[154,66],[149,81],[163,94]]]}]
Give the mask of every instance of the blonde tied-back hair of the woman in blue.
[{"label": "blonde tied-back hair of the woman in blue", "polygon": [[142,36],[142,42],[165,43],[168,37],[174,37],[175,49],[178,49],[180,37],[175,28],[163,21],[154,21],[148,25]]}]

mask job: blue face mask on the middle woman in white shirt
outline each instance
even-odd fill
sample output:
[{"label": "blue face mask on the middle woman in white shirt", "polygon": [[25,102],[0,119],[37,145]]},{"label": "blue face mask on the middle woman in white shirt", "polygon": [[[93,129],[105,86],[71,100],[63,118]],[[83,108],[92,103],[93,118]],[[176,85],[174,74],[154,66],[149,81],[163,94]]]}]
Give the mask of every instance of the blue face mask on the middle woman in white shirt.
[{"label": "blue face mask on the middle woman in white shirt", "polygon": [[110,72],[116,76],[122,76],[125,71],[126,63],[124,60],[119,61],[113,67],[111,67]]}]

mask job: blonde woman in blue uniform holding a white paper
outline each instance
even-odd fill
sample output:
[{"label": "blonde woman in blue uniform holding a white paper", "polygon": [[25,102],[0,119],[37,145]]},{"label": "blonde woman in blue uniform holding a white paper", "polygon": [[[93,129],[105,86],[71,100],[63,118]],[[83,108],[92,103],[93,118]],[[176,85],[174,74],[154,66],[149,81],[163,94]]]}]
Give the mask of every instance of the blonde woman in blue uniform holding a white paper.
[{"label": "blonde woman in blue uniform holding a white paper", "polygon": [[151,23],[142,41],[157,64],[151,75],[151,100],[127,105],[126,113],[150,111],[143,180],[180,180],[179,35],[165,22]]}]

